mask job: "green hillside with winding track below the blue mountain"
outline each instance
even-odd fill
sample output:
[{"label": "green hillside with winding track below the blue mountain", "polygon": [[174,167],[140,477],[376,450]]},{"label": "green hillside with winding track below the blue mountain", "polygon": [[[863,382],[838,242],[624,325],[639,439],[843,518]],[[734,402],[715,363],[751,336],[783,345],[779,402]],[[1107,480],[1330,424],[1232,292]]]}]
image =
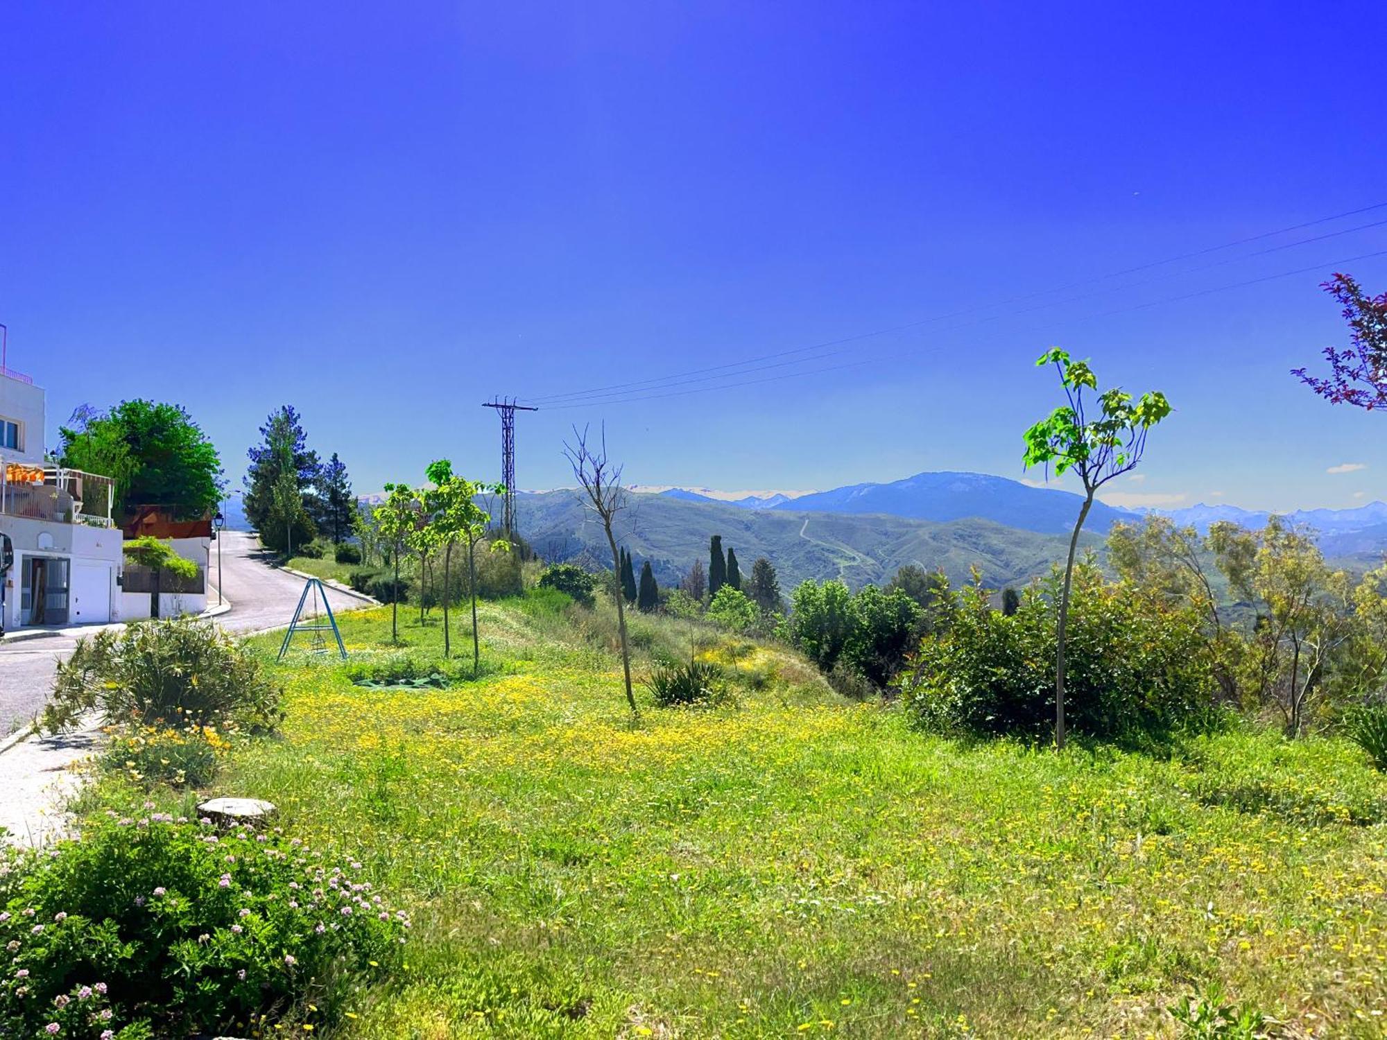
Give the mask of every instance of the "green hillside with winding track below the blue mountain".
[{"label": "green hillside with winding track below the blue mountain", "polygon": [[[520,530],[545,559],[610,567],[602,528],[576,492],[523,494],[517,512]],[[1046,573],[1068,546],[1062,535],[989,520],[932,523],[782,508],[752,510],[660,494],[631,495],[617,530],[638,560],[651,560],[660,584],[678,581],[694,560],[706,559],[713,534],[736,549],[746,570],[757,556],[767,556],[786,589],[804,578],[843,578],[853,587],[885,582],[907,563],[943,569],[954,582],[967,581],[970,567],[978,566],[985,581],[1000,588]],[[1099,541],[1097,534],[1086,534],[1083,544]]]}]

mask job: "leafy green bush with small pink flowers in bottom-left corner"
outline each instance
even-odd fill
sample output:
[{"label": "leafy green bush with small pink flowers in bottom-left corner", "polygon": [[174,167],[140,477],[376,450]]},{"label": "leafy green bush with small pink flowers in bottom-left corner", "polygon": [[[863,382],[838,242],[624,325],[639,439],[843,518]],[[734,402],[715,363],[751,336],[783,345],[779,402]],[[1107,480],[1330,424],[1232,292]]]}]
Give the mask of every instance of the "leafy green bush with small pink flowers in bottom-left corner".
[{"label": "leafy green bush with small pink flowers in bottom-left corner", "polygon": [[[146,803],[151,807],[153,803]],[[151,813],[0,867],[0,1036],[136,1040],[331,1021],[409,919],[279,832]]]}]

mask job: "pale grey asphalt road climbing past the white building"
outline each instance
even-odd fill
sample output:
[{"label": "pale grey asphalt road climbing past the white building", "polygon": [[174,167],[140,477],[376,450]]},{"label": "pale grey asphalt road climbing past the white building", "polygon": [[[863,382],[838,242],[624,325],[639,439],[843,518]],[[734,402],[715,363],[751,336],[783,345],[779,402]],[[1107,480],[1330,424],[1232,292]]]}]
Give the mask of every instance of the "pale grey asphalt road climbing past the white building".
[{"label": "pale grey asphalt road climbing past the white building", "polygon": [[[216,623],[229,631],[254,632],[287,625],[304,591],[304,580],[269,566],[254,535],[222,531],[222,593],[230,613]],[[208,567],[208,606],[216,605],[216,553]],[[354,610],[365,603],[329,591],[334,612]],[[76,635],[54,632],[35,639],[0,642],[0,739],[28,722],[43,707],[53,685],[53,668],[72,653]],[[305,636],[307,638],[307,636]]]}]

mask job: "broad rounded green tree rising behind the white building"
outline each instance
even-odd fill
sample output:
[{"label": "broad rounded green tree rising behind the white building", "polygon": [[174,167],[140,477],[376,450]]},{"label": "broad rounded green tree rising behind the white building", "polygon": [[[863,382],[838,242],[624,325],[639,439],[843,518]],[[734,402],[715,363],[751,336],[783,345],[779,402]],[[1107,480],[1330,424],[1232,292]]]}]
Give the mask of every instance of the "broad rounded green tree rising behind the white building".
[{"label": "broad rounded green tree rising behind the white building", "polygon": [[[64,466],[115,480],[112,514],[162,506],[176,520],[216,512],[222,460],[203,428],[180,405],[122,401],[110,412],[80,408],[61,427]],[[86,512],[98,503],[89,502]]]}]

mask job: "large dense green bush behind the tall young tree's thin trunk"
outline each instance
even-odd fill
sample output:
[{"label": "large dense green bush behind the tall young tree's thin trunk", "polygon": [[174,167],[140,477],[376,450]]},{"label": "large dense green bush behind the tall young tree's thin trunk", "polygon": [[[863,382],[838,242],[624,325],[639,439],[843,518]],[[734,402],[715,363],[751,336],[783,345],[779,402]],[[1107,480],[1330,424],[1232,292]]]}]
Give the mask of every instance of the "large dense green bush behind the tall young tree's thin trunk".
[{"label": "large dense green bush behind the tall young tree's thin trunk", "polygon": [[[1214,678],[1201,618],[1093,567],[1075,571],[1065,718],[1096,738],[1142,740],[1212,720]],[[1056,610],[1040,595],[1017,613],[964,589],[953,625],[920,643],[900,682],[907,709],[943,732],[1043,738],[1054,725]]]}]

